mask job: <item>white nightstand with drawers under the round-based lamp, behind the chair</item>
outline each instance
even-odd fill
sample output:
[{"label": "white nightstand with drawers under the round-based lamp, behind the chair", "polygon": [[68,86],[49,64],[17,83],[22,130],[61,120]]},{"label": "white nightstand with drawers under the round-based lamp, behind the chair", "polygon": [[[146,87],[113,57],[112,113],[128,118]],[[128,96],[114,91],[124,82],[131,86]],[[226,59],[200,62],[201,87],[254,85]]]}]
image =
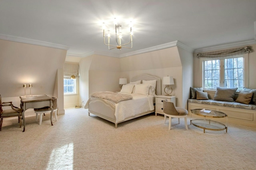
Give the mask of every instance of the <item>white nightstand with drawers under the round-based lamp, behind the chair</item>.
[{"label": "white nightstand with drawers under the round-based lamp, behind the chair", "polygon": [[163,101],[166,100],[168,102],[174,103],[174,106],[176,106],[176,96],[164,96],[164,95],[159,95],[156,96],[156,115],[157,113],[159,114],[164,114],[163,111]]}]

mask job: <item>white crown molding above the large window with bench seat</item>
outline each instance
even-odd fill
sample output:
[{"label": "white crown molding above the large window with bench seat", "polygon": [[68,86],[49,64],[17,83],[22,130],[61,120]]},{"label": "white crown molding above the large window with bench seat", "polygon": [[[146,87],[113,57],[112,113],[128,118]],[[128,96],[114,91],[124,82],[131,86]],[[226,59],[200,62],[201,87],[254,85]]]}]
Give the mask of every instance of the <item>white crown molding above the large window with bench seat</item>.
[{"label": "white crown molding above the large window with bench seat", "polygon": [[224,44],[224,45],[217,45],[214,47],[206,47],[202,49],[196,49],[194,53],[202,53],[202,52],[208,52],[208,51],[216,51],[221,49],[229,49],[229,48],[236,48],[244,45],[252,45],[256,44],[256,40],[248,40],[248,41],[241,41],[236,43],[230,43],[230,44]]}]

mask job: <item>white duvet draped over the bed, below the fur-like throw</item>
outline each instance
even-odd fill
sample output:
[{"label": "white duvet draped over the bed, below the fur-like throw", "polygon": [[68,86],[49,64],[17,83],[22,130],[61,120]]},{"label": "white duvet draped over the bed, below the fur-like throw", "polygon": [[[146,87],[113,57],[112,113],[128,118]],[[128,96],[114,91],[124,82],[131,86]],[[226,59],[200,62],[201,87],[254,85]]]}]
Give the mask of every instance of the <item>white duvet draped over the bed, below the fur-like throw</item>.
[{"label": "white duvet draped over the bed, below the fur-like throw", "polygon": [[116,106],[116,123],[123,121],[127,117],[154,110],[154,96],[132,94],[132,97],[132,100],[124,100],[117,104],[113,102]]}]

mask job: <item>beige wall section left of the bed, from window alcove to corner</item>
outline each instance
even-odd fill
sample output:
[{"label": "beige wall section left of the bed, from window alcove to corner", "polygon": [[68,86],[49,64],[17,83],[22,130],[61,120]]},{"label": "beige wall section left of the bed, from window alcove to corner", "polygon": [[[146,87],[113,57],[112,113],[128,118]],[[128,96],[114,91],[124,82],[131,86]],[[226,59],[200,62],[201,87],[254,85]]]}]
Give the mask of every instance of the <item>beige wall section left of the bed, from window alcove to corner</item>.
[{"label": "beige wall section left of the bed, from window alcove to corner", "polygon": [[[89,94],[98,91],[120,91],[120,59],[101,55],[91,55],[80,60],[79,100],[84,104]],[[83,104],[83,105],[84,105]],[[82,105],[82,106],[83,106]]]}]

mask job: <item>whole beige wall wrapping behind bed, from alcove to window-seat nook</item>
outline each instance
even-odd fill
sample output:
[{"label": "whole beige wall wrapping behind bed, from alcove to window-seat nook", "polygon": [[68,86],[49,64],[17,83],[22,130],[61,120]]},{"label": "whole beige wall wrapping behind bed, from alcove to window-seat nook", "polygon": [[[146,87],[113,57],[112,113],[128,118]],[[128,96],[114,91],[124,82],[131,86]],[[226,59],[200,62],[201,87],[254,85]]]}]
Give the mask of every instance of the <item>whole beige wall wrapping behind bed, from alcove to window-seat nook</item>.
[{"label": "whole beige wall wrapping behind bed, from alcove to window-seat nook", "polygon": [[[151,74],[161,79],[164,76],[173,76],[174,85],[171,86],[173,88],[172,95],[177,98],[176,105],[187,107],[189,87],[192,86],[192,62],[193,54],[182,48],[178,49],[178,47],[124,58],[101,55],[84,57],[79,63],[79,98],[80,101],[84,100],[86,103],[92,92],[120,91],[119,78],[127,78],[129,82],[134,76]],[[183,85],[184,81],[186,85]],[[162,85],[162,94],[165,94],[164,87],[165,85]],[[184,87],[185,90],[183,90]]]}]

